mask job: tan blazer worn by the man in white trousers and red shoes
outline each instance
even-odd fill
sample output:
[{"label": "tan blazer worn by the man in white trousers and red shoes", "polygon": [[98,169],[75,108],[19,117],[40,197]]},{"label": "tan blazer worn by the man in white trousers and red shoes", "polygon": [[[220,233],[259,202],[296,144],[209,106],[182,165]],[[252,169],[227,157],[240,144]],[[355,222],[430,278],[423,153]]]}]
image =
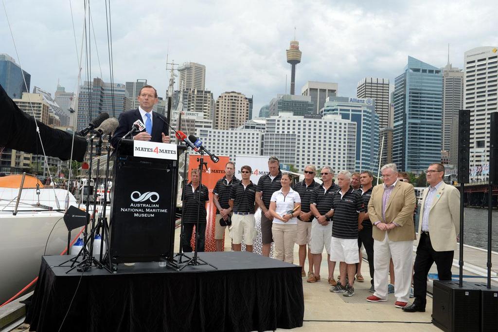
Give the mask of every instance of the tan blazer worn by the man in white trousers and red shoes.
[{"label": "tan blazer worn by the man in white trousers and red shoes", "polygon": [[384,194],[384,184],[377,184],[373,187],[372,196],[369,201],[369,217],[372,224],[377,221],[387,224],[395,222],[396,226],[392,230],[381,231],[373,227],[373,239],[383,241],[385,232],[390,241],[413,241],[413,210],[415,209],[415,190],[413,185],[407,182],[396,181],[392,189],[387,207],[385,209],[385,221],[382,220],[382,195]]}]

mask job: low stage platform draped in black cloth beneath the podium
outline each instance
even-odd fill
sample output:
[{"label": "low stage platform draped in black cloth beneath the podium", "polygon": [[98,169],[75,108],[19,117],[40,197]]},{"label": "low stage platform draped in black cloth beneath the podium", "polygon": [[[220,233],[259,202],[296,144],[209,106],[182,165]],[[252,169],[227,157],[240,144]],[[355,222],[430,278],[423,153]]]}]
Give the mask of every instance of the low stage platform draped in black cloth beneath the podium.
[{"label": "low stage platform draped in black cloth beneath the podium", "polygon": [[159,263],[66,274],[68,256],[43,256],[29,331],[268,331],[303,325],[301,268],[248,252],[206,252],[213,264],[182,271]]}]

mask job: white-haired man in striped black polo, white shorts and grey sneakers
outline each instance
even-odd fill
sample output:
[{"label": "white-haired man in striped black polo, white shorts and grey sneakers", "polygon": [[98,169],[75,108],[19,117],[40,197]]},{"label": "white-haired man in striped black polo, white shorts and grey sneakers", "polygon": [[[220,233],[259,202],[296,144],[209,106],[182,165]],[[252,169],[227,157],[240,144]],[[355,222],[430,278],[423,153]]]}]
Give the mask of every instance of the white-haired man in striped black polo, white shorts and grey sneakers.
[{"label": "white-haired man in striped black polo, white shorts and grey sneakers", "polygon": [[[337,175],[341,190],[334,194],[332,202],[332,239],[330,242],[330,260],[341,262],[339,269],[341,279],[330,291],[344,293],[344,296],[355,294],[354,282],[358,255],[358,224],[362,222],[363,199],[361,194],[351,186],[351,173],[341,170]],[[344,264],[344,263],[346,264]],[[346,284],[346,278],[349,283]]]}]

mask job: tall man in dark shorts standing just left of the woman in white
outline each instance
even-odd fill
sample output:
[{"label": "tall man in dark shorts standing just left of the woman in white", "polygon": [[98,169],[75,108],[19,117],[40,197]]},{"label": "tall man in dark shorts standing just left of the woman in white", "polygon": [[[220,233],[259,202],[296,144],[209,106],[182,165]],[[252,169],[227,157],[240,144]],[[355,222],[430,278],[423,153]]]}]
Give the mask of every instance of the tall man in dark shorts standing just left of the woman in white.
[{"label": "tall man in dark shorts standing just left of the woman in white", "polygon": [[261,209],[261,252],[263,256],[270,256],[271,242],[273,242],[273,235],[271,233],[271,226],[273,217],[268,210],[270,207],[271,195],[277,190],[282,188],[280,179],[282,172],[280,171],[280,162],[276,157],[268,159],[268,174],[263,175],[257,182],[256,203]]}]

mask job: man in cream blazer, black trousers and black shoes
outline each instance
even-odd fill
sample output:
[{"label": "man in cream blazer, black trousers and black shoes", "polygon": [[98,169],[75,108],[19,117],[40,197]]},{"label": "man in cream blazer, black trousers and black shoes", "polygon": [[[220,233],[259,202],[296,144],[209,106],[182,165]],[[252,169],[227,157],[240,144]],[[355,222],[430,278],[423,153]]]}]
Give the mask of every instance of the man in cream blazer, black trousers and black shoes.
[{"label": "man in cream blazer, black trousers and black shoes", "polygon": [[419,243],[413,268],[413,304],[404,312],[425,312],[427,274],[436,263],[439,280],[451,280],[451,266],[460,230],[460,191],[443,181],[444,166],[429,165],[426,177],[430,184],[422,195]]}]

